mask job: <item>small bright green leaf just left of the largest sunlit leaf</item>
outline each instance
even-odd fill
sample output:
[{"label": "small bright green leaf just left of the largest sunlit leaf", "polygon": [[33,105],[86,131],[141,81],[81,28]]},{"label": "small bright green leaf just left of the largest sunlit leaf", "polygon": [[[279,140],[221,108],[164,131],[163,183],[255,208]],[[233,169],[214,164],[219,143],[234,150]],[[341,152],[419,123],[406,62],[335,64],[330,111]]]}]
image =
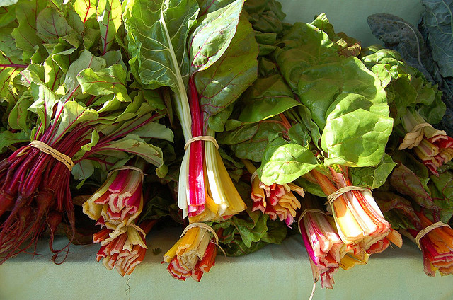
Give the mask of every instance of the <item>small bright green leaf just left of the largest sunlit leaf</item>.
[{"label": "small bright green leaf just left of the largest sunlit leaf", "polygon": [[275,139],[265,149],[258,176],[265,185],[291,183],[319,166],[314,154],[299,144]]}]

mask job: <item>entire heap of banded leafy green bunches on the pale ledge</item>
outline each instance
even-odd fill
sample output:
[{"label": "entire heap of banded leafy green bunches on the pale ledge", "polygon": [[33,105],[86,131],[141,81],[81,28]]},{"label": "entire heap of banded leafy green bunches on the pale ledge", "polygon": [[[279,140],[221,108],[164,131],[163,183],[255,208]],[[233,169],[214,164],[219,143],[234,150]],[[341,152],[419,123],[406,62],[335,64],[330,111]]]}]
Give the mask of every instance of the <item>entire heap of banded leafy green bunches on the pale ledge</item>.
[{"label": "entire heap of banded leafy green bunches on the pale ledge", "polygon": [[130,275],[180,226],[180,280],[294,234],[314,288],[403,242],[453,274],[453,2],[422,3],[362,47],[275,0],[0,1],[0,264],[47,238]]}]

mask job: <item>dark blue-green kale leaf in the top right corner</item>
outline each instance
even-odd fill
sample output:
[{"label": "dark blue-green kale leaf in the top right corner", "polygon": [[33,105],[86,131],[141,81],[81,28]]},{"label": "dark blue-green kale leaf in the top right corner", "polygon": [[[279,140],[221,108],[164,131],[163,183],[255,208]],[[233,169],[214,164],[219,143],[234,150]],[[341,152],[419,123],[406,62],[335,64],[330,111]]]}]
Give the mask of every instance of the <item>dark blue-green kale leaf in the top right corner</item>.
[{"label": "dark blue-green kale leaf in the top right corner", "polygon": [[422,0],[422,4],[426,8],[423,26],[428,32],[432,59],[437,62],[442,77],[453,77],[453,2]]}]

